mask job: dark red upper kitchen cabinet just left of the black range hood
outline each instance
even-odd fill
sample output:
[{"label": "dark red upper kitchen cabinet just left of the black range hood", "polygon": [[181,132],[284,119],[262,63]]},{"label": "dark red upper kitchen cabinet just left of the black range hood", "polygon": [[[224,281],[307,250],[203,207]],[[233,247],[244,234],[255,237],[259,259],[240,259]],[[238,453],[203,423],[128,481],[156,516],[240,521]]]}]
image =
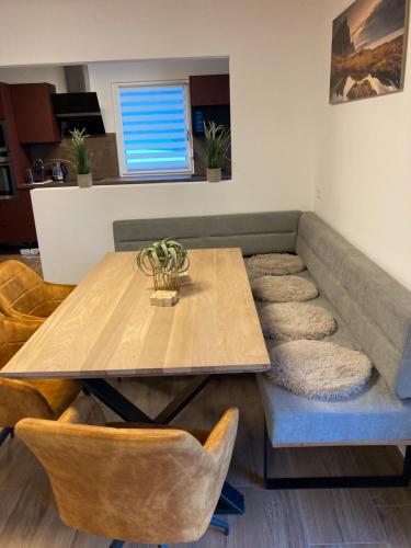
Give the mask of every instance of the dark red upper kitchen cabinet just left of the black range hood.
[{"label": "dark red upper kitchen cabinet just left of the black range hood", "polygon": [[23,145],[61,140],[53,112],[50,83],[15,83],[10,85],[19,141]]}]

